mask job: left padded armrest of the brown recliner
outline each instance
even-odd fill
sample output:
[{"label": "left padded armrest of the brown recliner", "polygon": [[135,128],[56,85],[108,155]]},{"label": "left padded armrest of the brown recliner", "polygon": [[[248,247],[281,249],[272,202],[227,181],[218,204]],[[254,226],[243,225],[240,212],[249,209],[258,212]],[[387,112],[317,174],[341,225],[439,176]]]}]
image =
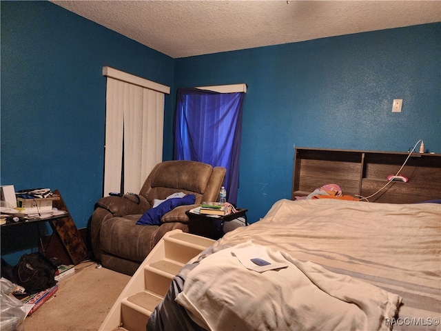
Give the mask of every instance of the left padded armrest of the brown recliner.
[{"label": "left padded armrest of the brown recliner", "polygon": [[96,205],[118,217],[143,214],[145,210],[150,208],[150,203],[145,197],[139,195],[138,203],[138,199],[132,194],[124,194],[123,197],[103,197],[96,202]]}]

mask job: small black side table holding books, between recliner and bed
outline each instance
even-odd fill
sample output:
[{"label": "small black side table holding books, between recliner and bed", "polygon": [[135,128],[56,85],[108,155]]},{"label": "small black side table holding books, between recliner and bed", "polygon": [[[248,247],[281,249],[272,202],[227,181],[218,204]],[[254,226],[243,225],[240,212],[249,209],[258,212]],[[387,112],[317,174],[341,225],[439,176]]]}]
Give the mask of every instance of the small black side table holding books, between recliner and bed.
[{"label": "small black side table holding books, between recliner and bed", "polygon": [[205,214],[195,214],[194,212],[187,211],[185,214],[188,216],[188,228],[192,234],[198,236],[211,238],[217,240],[225,234],[222,230],[223,223],[243,217],[245,219],[245,225],[248,225],[247,221],[247,209],[236,208],[237,212],[227,214],[225,216],[213,216]]}]

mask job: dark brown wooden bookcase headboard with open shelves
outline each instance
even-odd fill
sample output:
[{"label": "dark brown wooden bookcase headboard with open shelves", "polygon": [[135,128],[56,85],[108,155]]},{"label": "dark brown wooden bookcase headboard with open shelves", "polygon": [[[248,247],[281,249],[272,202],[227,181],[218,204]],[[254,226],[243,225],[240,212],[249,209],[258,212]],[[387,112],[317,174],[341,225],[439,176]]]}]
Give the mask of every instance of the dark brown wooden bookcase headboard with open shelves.
[{"label": "dark brown wooden bookcase headboard with open shelves", "polygon": [[[369,197],[400,170],[409,153],[364,150],[296,148],[292,197],[304,197],[334,183],[342,193]],[[409,181],[393,181],[370,202],[415,203],[441,199],[441,154],[413,152],[400,174]]]}]

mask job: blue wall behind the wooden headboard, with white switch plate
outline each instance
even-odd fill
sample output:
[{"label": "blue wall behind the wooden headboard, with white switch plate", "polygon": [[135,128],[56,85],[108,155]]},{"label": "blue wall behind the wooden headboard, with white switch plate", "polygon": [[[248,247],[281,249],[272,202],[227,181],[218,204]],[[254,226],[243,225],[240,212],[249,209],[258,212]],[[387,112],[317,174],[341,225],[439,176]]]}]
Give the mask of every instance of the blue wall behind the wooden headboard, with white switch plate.
[{"label": "blue wall behind the wooden headboard, with white switch plate", "polygon": [[[175,68],[176,88],[248,85],[238,205],[250,221],[291,198],[294,145],[407,151],[424,139],[441,152],[441,23],[176,59]],[[393,99],[403,99],[401,113]]]}]

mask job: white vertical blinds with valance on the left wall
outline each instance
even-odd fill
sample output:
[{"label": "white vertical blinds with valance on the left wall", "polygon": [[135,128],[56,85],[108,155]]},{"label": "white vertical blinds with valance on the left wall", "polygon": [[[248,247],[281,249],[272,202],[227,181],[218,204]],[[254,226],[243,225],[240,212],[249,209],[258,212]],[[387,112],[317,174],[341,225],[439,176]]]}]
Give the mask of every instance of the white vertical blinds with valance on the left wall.
[{"label": "white vertical blinds with valance on the left wall", "polygon": [[[119,73],[123,81],[112,78]],[[170,88],[108,67],[103,74],[107,76],[104,195],[120,192],[121,180],[124,192],[137,193],[154,165],[162,161],[164,93],[170,93]],[[127,77],[136,79],[130,83]],[[149,83],[155,90],[145,87]]]}]

